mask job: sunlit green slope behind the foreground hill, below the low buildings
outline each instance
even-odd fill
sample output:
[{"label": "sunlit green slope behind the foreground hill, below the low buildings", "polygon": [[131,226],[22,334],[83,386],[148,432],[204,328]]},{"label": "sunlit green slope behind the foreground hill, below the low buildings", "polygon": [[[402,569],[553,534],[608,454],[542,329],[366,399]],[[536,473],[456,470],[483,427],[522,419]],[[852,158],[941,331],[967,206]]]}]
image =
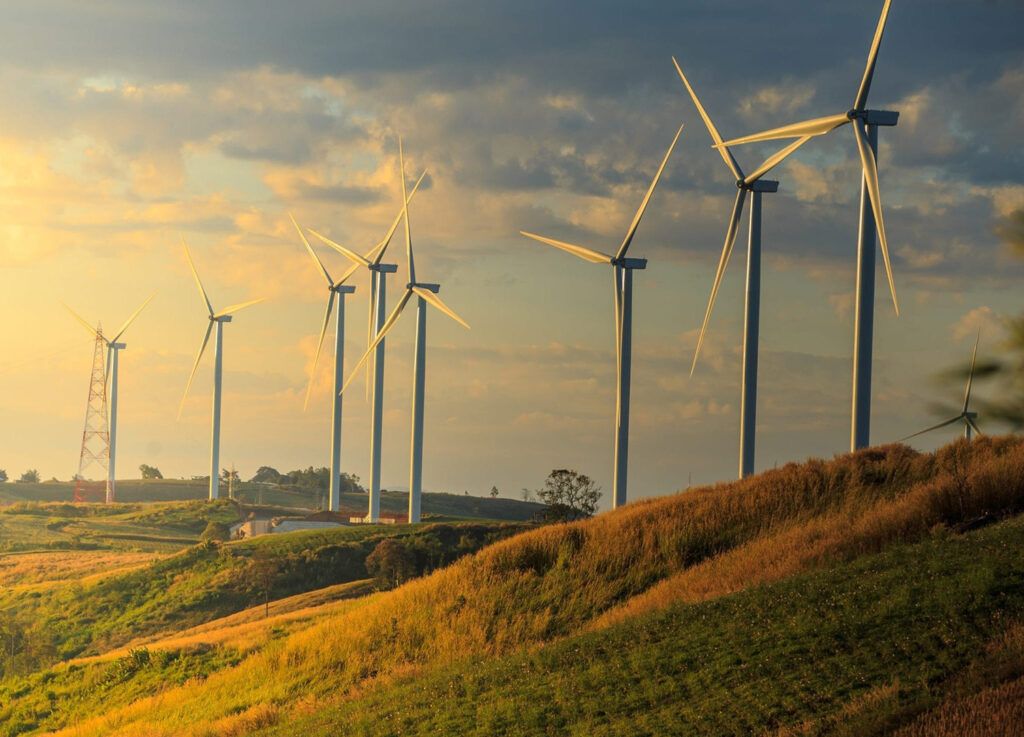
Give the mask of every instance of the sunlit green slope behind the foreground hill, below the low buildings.
[{"label": "sunlit green slope behind the foreground hill, below the low buildings", "polygon": [[435,566],[522,529],[513,523],[360,525],[194,546],[123,574],[49,590],[0,591],[0,608],[51,633],[57,654],[74,657],[141,636],[185,628],[241,611],[269,593],[288,597],[367,577],[367,556],[382,539],[428,546]]}]

